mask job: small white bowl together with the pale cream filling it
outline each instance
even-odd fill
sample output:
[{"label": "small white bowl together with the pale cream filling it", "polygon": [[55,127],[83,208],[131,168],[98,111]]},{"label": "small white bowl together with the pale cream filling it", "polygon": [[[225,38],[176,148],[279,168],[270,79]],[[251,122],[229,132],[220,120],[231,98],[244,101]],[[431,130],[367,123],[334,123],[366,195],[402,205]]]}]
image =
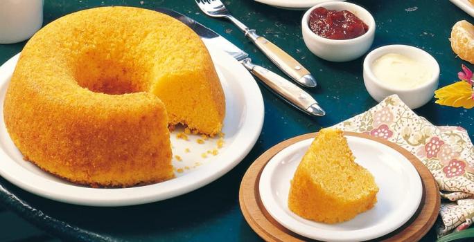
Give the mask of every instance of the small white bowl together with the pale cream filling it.
[{"label": "small white bowl together with the pale cream filling it", "polygon": [[397,94],[411,109],[428,103],[439,82],[439,65],[424,50],[391,45],[377,48],[364,60],[364,83],[378,102]]}]

